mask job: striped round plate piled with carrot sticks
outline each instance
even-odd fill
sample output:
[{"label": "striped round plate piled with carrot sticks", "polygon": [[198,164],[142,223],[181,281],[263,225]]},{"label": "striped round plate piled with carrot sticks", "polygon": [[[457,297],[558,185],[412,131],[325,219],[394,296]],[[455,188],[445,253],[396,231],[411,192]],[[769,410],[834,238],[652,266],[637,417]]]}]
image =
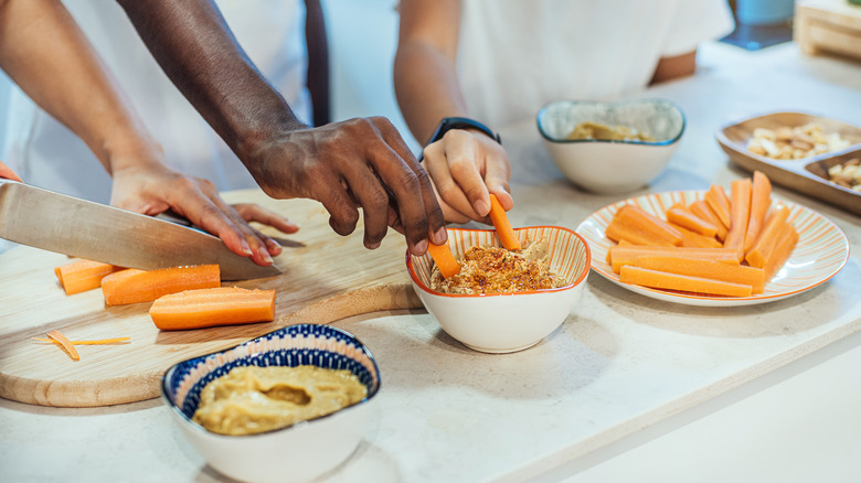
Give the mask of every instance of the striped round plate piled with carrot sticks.
[{"label": "striped round plate piled with carrot sticks", "polygon": [[638,196],[589,215],[576,232],[592,269],[636,293],[702,307],[770,302],[818,287],[849,259],[831,221],[777,200],[754,172],[727,192],[673,191]]}]

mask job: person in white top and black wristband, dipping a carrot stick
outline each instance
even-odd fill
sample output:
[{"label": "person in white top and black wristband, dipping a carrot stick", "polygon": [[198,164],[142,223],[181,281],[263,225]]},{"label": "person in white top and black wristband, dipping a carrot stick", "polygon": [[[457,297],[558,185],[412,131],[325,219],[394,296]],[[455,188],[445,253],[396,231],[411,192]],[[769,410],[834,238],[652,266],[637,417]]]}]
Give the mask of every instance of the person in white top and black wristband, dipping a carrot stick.
[{"label": "person in white top and black wristband, dipping a carrot stick", "polygon": [[398,11],[397,101],[415,138],[435,141],[423,164],[460,223],[487,222],[489,193],[513,206],[487,126],[693,74],[698,44],[733,29],[725,0],[401,0]]}]

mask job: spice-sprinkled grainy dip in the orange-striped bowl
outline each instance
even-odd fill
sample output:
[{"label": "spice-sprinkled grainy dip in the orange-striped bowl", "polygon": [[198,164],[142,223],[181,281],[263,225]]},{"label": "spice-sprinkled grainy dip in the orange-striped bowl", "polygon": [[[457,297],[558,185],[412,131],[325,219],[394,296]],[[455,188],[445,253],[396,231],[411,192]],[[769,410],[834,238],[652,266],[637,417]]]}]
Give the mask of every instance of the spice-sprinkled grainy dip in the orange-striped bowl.
[{"label": "spice-sprinkled grainy dip in the orange-striped bowl", "polygon": [[565,287],[568,282],[550,271],[546,244],[538,242],[518,251],[500,247],[471,247],[458,260],[460,272],[444,278],[434,267],[431,288],[443,293],[513,293]]}]

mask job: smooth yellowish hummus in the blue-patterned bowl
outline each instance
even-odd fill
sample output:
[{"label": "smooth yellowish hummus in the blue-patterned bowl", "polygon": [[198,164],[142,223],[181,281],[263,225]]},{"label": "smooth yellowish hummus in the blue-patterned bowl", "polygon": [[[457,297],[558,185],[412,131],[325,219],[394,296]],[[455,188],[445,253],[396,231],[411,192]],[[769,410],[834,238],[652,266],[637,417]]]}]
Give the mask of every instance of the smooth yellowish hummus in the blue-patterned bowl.
[{"label": "smooth yellowish hummus in the blue-patterned bowl", "polygon": [[236,367],[203,388],[192,419],[212,432],[253,434],[334,412],[366,395],[347,369]]}]

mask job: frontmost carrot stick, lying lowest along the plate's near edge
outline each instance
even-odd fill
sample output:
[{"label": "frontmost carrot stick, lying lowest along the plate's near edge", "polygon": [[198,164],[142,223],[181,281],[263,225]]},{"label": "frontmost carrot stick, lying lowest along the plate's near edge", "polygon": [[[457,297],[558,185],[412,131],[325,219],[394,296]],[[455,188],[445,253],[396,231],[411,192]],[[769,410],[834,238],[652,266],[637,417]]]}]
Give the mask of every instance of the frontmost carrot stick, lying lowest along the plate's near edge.
[{"label": "frontmost carrot stick, lying lowest along the plate's near edge", "polygon": [[655,289],[681,290],[684,292],[709,293],[714,296],[750,297],[753,292],[753,288],[748,285],[649,270],[631,265],[621,267],[619,280],[621,280],[623,283],[633,283]]}]

